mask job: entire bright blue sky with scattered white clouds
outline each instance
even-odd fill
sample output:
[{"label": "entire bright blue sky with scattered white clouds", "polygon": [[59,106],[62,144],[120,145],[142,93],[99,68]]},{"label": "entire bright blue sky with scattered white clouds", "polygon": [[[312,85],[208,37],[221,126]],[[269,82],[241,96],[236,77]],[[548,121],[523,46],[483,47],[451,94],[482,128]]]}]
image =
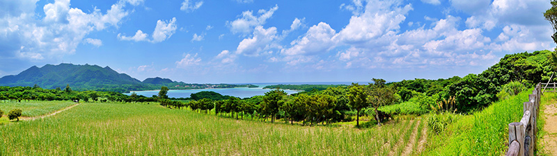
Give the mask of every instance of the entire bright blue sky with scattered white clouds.
[{"label": "entire bright blue sky with scattered white clouds", "polygon": [[186,83],[480,73],[554,49],[542,0],[0,0],[0,76],[97,64]]}]

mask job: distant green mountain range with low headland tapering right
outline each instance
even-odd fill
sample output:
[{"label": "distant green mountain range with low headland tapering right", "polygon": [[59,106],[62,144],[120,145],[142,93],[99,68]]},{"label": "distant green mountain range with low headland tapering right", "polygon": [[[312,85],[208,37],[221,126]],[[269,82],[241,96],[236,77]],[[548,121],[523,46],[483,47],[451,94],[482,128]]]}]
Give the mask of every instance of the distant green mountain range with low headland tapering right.
[{"label": "distant green mountain range with low headland tapering right", "polygon": [[15,76],[0,78],[0,86],[39,85],[45,89],[65,88],[70,85],[75,90],[97,90],[113,92],[130,92],[139,90],[160,89],[205,89],[230,87],[257,87],[255,85],[229,84],[190,84],[176,82],[168,78],[147,78],[140,81],[125,73],[118,73],[110,67],[76,64],[46,64],[43,67],[33,66]]}]

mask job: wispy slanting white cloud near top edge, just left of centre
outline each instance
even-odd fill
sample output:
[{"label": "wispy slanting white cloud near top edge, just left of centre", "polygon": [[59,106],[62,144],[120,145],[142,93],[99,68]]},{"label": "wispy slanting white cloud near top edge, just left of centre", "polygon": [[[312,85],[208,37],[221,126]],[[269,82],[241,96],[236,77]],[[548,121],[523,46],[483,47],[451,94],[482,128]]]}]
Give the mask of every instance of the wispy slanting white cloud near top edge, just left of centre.
[{"label": "wispy slanting white cloud near top edge, just left of centre", "polygon": [[242,17],[235,19],[234,21],[227,21],[227,25],[230,27],[232,33],[250,33],[253,28],[265,24],[267,19],[272,17],[273,13],[278,9],[275,5],[269,10],[258,10],[259,17],[253,15],[251,10],[242,12]]}]

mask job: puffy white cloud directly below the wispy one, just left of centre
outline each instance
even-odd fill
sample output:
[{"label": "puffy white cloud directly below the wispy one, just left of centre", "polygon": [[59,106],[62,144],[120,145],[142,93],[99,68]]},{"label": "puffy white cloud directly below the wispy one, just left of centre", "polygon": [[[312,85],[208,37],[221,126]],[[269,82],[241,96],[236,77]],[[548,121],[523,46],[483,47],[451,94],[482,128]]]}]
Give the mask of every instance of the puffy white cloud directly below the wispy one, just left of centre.
[{"label": "puffy white cloud directly below the wispy one, just left of centre", "polygon": [[253,56],[269,49],[280,49],[281,46],[276,43],[278,39],[276,33],[275,27],[265,29],[262,26],[257,26],[253,31],[253,37],[246,38],[238,44],[236,53]]}]

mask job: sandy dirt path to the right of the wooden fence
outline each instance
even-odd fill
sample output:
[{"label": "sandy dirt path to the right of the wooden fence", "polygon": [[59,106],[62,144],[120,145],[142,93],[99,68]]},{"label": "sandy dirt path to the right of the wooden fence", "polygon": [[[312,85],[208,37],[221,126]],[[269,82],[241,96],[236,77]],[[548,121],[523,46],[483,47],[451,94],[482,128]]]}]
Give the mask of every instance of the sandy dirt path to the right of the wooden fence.
[{"label": "sandy dirt path to the right of the wooden fence", "polygon": [[542,138],[547,154],[557,155],[557,104],[545,105],[545,125],[547,134]]}]

